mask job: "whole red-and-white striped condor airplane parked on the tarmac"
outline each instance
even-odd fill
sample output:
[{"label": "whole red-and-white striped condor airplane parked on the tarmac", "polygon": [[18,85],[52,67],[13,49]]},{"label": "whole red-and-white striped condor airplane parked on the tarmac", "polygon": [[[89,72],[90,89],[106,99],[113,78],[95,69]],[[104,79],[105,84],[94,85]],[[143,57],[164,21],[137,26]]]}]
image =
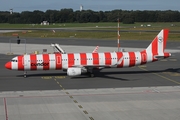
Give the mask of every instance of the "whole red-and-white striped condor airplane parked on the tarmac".
[{"label": "whole red-and-white striped condor airplane parked on the tarmac", "polygon": [[102,52],[102,53],[54,53],[25,54],[14,57],[5,64],[10,70],[63,70],[68,76],[74,77],[88,73],[94,77],[94,69],[123,68],[143,65],[160,59],[168,58],[171,53],[165,52],[168,29],[162,29],[150,45],[142,51]]}]

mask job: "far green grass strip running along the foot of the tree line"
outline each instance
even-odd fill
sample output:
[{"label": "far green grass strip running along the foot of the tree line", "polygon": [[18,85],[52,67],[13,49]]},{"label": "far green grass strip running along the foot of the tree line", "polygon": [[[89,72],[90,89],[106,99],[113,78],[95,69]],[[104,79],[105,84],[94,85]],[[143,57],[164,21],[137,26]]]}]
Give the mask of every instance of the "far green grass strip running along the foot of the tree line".
[{"label": "far green grass strip running along the foot of the tree line", "polygon": [[[135,24],[122,24],[121,27],[140,27],[141,25],[150,24],[152,27],[180,27],[180,22],[166,22],[166,23],[135,23]],[[40,24],[8,24],[1,23],[0,28],[68,28],[68,27],[117,27],[117,22],[100,22],[100,23],[54,23],[50,25],[40,25]]]}]

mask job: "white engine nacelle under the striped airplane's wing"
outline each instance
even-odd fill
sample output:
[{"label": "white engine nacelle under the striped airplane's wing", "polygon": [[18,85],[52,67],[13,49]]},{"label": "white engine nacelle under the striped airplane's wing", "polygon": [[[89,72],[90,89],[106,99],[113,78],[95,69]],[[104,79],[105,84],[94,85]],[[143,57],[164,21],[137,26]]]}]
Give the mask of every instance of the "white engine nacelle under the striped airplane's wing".
[{"label": "white engine nacelle under the striped airplane's wing", "polygon": [[68,68],[67,75],[68,76],[78,76],[81,75],[81,68]]}]

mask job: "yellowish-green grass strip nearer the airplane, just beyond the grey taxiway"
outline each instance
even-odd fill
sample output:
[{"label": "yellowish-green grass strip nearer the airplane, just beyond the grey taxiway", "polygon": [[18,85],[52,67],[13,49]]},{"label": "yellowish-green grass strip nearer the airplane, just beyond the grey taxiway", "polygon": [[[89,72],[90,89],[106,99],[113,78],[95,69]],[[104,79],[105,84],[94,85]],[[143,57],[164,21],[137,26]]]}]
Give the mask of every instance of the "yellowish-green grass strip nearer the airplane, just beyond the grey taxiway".
[{"label": "yellowish-green grass strip nearer the airplane, just beyond the grey taxiway", "polygon": [[[5,33],[3,36],[12,36],[13,33]],[[18,32],[20,37],[38,38],[88,38],[88,39],[112,39],[117,40],[117,32],[78,32],[78,31],[31,31],[27,33]],[[152,40],[158,33],[156,32],[122,32],[121,40]],[[170,33],[169,40],[179,40],[179,33]]]}]

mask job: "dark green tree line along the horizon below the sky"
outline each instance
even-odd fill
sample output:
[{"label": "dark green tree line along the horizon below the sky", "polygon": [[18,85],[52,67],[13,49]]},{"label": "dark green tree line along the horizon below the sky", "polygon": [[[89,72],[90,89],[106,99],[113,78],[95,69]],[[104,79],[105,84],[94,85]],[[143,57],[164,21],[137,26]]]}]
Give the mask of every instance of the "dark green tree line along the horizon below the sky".
[{"label": "dark green tree line along the horizon below the sky", "polygon": [[134,22],[180,22],[180,12],[172,10],[73,11],[73,9],[61,9],[45,12],[39,10],[23,11],[10,14],[8,11],[0,11],[0,23],[10,24],[40,24],[42,21],[48,21],[49,23],[117,22],[118,18],[124,24],[133,24]]}]

